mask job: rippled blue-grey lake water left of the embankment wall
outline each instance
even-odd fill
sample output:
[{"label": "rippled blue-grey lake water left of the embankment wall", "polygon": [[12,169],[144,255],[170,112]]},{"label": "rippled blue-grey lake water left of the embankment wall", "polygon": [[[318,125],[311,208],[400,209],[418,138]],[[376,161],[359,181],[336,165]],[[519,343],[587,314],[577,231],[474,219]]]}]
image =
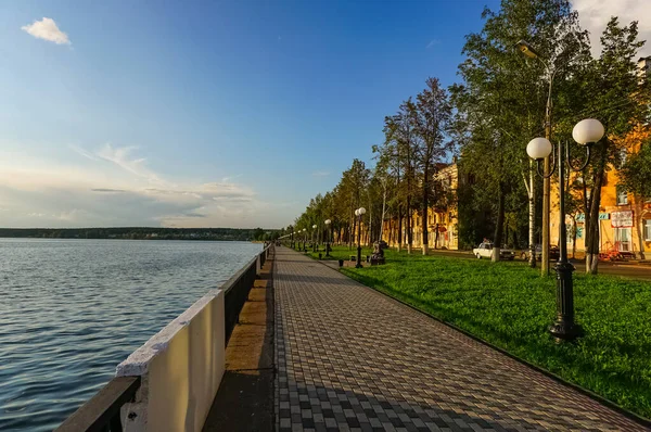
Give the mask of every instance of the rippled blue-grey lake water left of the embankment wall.
[{"label": "rippled blue-grey lake water left of the embankment wall", "polygon": [[51,431],[115,366],[261,250],[0,239],[0,431]]}]

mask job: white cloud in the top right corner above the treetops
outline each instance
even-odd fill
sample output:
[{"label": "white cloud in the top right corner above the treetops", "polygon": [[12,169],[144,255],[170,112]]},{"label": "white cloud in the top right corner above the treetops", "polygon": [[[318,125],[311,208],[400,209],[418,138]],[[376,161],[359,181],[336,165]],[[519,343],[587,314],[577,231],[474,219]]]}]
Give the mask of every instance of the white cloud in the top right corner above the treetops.
[{"label": "white cloud in the top right corner above the treetops", "polygon": [[639,21],[640,40],[647,40],[640,55],[651,54],[651,1],[649,0],[574,0],[574,9],[578,11],[582,27],[590,31],[592,53],[599,55],[601,42],[599,38],[611,16],[618,16],[621,25]]}]

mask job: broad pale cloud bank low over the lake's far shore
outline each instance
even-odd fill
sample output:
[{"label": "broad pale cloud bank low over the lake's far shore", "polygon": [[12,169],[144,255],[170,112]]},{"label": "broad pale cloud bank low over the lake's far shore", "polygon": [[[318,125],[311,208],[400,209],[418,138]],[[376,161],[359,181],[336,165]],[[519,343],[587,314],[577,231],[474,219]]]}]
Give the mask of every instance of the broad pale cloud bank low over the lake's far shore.
[{"label": "broad pale cloud bank low over the lake's far shore", "polygon": [[177,183],[148,167],[133,147],[67,149],[84,157],[9,157],[0,147],[1,227],[251,228],[280,226],[286,219],[286,208],[261,201],[253,189],[233,180],[240,176]]}]

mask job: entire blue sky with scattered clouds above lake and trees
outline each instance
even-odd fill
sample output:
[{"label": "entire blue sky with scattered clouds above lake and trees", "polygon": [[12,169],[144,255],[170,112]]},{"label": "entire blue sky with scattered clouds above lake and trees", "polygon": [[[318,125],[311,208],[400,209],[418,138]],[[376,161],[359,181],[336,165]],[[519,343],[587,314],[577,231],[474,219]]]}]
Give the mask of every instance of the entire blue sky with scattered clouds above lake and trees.
[{"label": "entire blue sky with scattered clouds above lake and trees", "polygon": [[[485,5],[3,0],[0,227],[286,226],[457,80]],[[651,39],[651,1],[574,7],[595,46],[611,15]]]}]

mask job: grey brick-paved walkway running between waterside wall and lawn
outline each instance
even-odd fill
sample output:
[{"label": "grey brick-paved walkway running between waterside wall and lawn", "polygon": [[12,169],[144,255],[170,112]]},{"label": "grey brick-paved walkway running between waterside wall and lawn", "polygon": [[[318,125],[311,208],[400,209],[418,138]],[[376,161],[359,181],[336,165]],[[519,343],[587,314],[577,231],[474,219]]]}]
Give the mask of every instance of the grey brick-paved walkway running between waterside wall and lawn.
[{"label": "grey brick-paved walkway running between waterside wall and lawn", "polygon": [[644,430],[286,247],[273,285],[280,431]]}]

